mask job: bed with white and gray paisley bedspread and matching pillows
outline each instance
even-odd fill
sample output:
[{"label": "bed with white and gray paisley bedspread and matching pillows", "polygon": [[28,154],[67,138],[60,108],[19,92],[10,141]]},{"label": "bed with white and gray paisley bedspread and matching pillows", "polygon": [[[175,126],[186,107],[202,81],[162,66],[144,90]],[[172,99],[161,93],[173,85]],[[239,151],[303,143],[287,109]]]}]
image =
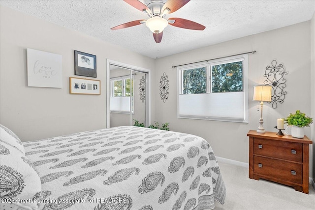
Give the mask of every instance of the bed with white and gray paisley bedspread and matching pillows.
[{"label": "bed with white and gray paisley bedspread and matching pillows", "polygon": [[214,200],[224,204],[218,162],[201,137],[123,126],[21,143],[0,129],[3,209],[211,210]]}]

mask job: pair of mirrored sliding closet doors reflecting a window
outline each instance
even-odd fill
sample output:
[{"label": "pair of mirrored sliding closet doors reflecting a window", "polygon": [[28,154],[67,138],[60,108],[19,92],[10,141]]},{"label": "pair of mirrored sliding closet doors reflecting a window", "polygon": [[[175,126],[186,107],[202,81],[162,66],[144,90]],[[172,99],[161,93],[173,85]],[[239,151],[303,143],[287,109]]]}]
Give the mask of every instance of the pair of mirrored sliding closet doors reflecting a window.
[{"label": "pair of mirrored sliding closet doors reflecting a window", "polygon": [[148,73],[109,65],[109,127],[148,127]]}]

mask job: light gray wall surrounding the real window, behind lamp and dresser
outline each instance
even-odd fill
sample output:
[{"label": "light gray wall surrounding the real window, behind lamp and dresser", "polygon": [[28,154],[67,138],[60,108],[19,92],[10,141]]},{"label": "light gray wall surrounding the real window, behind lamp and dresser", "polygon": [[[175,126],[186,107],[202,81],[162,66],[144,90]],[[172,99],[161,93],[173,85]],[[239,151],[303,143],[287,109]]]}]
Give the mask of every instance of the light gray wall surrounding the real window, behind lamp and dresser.
[{"label": "light gray wall surrounding the real window, behind lamp and dresser", "polygon": [[[163,72],[169,78],[169,99],[166,103],[157,99],[156,117],[158,122],[170,123],[170,129],[199,135],[205,138],[216,156],[248,162],[249,138],[247,132],[259,126],[260,111],[258,102],[252,101],[253,85],[263,84],[265,69],[276,59],[283,63],[288,75],[287,95],[278,108],[264,103],[263,119],[266,131],[277,131],[277,118],[284,118],[290,112],[300,109],[311,115],[311,47],[310,21],[280,29],[247,36],[232,41],[212,45],[185,53],[179,53],[157,60],[157,76]],[[249,54],[249,123],[232,123],[208,120],[177,118],[177,69],[172,66],[228,56],[238,53],[257,51]],[[158,83],[158,77],[156,83]],[[154,93],[158,96],[158,90]],[[314,117],[314,114],[312,115]],[[311,129],[306,128],[311,137]],[[312,149],[311,149],[312,166]],[[312,168],[311,168],[312,169]],[[312,172],[312,170],[311,170]]]}]

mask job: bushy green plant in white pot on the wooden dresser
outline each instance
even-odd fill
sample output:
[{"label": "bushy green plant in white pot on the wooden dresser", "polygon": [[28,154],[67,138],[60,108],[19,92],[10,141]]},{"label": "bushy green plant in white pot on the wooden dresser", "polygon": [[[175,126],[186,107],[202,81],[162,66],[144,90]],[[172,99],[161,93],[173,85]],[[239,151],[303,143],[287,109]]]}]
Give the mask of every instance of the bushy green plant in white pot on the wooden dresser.
[{"label": "bushy green plant in white pot on the wooden dresser", "polygon": [[291,135],[296,138],[304,137],[304,127],[310,127],[313,123],[313,118],[308,117],[300,110],[296,110],[294,114],[290,113],[289,116],[284,118],[284,123],[292,126]]}]

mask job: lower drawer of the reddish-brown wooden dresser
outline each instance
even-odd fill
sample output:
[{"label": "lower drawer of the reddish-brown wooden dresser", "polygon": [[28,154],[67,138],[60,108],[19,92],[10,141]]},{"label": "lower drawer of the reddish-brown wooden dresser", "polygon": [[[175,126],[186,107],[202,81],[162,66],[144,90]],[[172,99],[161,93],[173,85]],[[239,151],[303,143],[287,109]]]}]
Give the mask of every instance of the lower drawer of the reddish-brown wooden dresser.
[{"label": "lower drawer of the reddish-brown wooden dresser", "polygon": [[302,164],[254,156],[253,173],[302,184]]}]

